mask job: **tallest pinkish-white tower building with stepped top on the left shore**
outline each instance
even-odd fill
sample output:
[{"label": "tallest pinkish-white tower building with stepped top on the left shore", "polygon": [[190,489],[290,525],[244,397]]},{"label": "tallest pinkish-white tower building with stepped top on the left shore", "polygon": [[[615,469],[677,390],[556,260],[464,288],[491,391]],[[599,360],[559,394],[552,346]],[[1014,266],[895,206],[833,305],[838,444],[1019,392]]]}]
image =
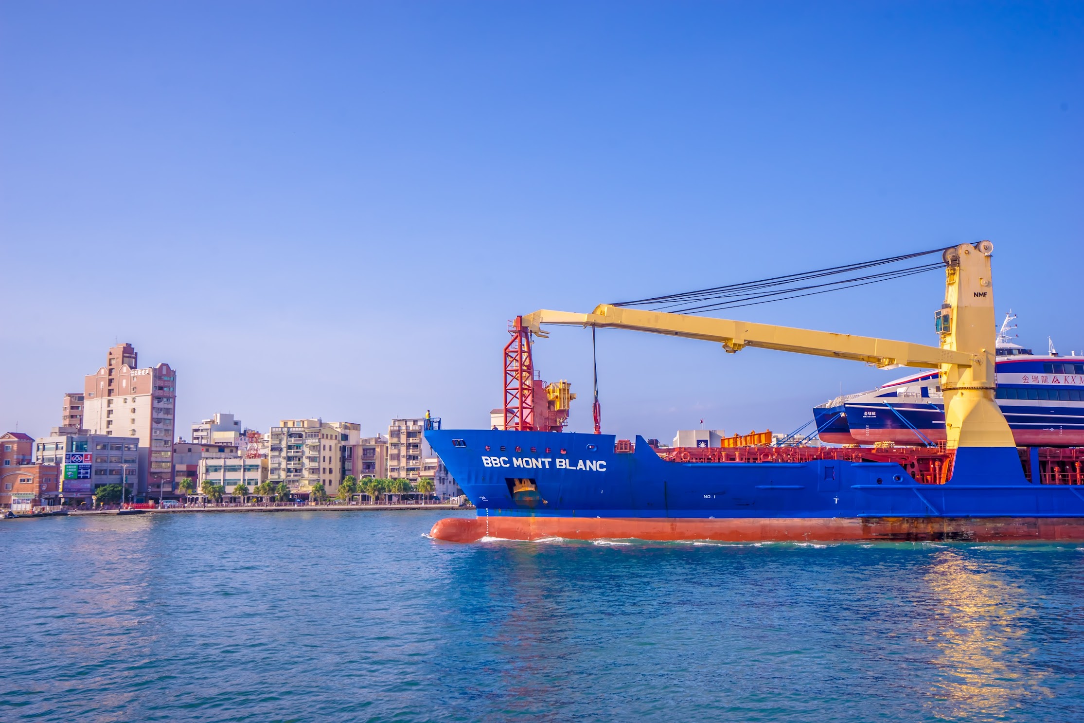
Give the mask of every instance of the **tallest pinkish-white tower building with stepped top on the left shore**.
[{"label": "tallest pinkish-white tower building with stepped top on the left shore", "polygon": [[83,384],[83,427],[139,439],[137,498],[173,494],[177,373],[169,364],[140,369],[130,344],[118,344]]}]

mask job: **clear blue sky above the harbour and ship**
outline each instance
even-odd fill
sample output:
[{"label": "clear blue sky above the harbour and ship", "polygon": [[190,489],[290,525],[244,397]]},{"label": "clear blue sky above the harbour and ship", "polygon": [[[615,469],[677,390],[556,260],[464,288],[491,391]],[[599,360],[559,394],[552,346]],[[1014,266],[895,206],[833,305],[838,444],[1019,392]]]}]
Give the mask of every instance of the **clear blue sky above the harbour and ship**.
[{"label": "clear blue sky above the harbour and ship", "polygon": [[[1080,3],[0,4],[0,428],[115,340],[178,429],[488,424],[506,321],[990,238],[1084,349]],[[108,283],[100,283],[106,279]],[[935,343],[929,274],[732,312]],[[900,372],[603,331],[604,431],[787,431]],[[535,345],[591,427],[590,333]]]}]

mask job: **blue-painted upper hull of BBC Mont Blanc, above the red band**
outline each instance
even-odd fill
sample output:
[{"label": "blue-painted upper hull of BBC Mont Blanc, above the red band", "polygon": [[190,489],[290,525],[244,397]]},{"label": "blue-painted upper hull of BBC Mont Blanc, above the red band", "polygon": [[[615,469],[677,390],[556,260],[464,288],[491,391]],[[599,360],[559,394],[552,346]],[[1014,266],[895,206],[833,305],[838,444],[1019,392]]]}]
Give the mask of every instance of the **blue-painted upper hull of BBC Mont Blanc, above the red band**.
[{"label": "blue-painted upper hull of BBC Mont Blanc, above the red band", "polygon": [[[479,514],[1084,517],[1084,488],[1030,483],[1015,448],[960,449],[949,483],[919,485],[903,467],[887,463],[666,462],[641,437],[634,453],[618,454],[612,435],[486,429],[425,434]],[[514,494],[516,479],[533,482],[537,493]]]}]

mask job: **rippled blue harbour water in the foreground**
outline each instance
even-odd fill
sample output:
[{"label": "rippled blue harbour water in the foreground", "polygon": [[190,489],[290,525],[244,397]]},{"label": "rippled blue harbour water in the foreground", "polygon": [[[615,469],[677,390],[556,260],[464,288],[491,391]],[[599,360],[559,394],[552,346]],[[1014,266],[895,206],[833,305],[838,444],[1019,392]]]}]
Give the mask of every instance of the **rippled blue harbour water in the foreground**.
[{"label": "rippled blue harbour water in the foreground", "polygon": [[1082,721],[1084,545],[0,522],[2,721]]}]

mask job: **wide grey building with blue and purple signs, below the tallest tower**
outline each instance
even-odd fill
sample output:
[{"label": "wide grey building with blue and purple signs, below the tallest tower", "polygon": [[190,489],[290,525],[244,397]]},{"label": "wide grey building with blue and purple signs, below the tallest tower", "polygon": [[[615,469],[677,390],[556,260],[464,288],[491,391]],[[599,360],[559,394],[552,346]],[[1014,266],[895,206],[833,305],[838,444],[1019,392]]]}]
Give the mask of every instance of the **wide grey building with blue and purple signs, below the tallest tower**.
[{"label": "wide grey building with blue and purple signs, below the tallest tower", "polygon": [[91,503],[94,489],[127,480],[128,492],[140,499],[139,437],[90,434],[74,427],[53,427],[48,437],[35,440],[40,464],[56,465],[57,493],[65,503]]}]

